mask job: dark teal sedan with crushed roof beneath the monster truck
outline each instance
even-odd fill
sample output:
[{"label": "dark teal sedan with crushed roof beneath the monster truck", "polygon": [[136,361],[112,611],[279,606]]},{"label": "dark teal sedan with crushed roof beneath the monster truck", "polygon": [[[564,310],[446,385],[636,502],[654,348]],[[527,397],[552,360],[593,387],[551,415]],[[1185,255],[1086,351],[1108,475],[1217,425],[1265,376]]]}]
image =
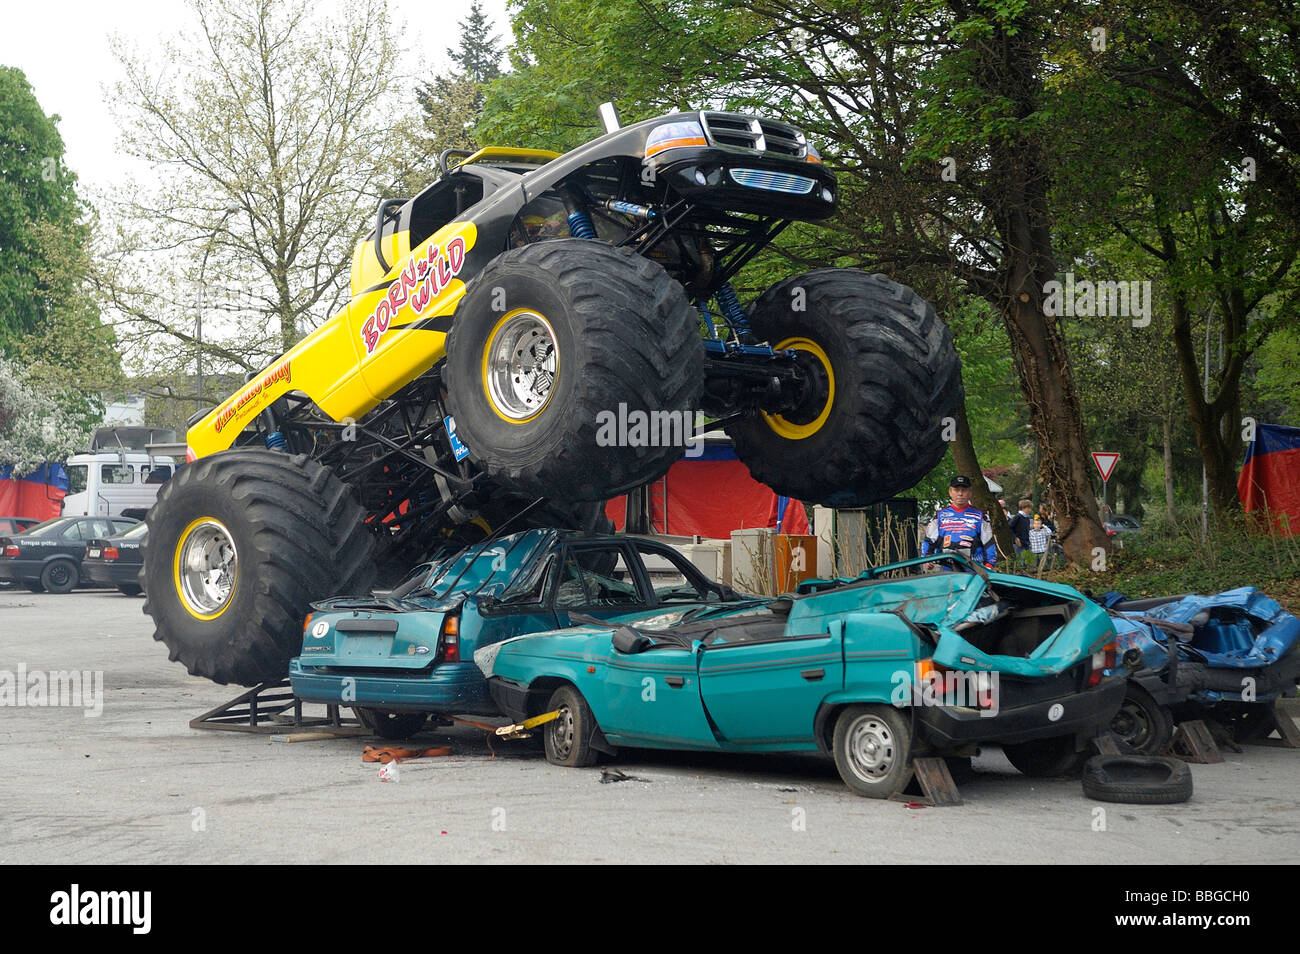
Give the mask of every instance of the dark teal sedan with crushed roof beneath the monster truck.
[{"label": "dark teal sedan with crushed roof beneath the monster truck", "polygon": [[343,703],[385,738],[406,738],[430,714],[495,714],[476,650],[569,625],[573,613],[718,606],[736,593],[653,539],[526,530],[421,568],[387,597],[312,604],[290,660],[294,694]]}]

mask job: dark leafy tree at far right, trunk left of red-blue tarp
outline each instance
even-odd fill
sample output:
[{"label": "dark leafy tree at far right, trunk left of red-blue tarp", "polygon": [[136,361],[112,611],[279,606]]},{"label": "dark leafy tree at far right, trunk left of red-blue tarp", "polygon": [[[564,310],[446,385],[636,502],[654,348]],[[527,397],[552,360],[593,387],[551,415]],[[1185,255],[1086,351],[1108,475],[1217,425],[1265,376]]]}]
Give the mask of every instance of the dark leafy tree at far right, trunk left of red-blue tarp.
[{"label": "dark leafy tree at far right, trunk left of red-blue tarp", "polygon": [[[1113,25],[1117,42],[1095,57],[1114,81],[1101,91],[1143,123],[1127,140],[1136,198],[1117,227],[1165,272],[1188,417],[1225,515],[1239,506],[1247,363],[1300,328],[1300,18],[1274,0],[1190,0],[1117,4]],[[1202,339],[1219,337],[1206,393]]]}]

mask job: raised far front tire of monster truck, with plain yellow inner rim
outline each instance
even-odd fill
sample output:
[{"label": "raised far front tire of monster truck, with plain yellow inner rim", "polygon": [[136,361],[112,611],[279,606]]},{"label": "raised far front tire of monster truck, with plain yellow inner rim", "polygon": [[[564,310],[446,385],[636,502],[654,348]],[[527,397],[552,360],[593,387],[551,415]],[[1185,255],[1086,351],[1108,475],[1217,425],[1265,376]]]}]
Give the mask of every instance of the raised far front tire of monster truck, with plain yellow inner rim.
[{"label": "raised far front tire of monster truck, with plain yellow inner rim", "polygon": [[864,507],[914,486],[944,456],[961,361],[948,326],[911,289],[818,269],[764,291],[750,326],[797,351],[812,382],[797,409],[727,428],[755,480],[801,500]]}]

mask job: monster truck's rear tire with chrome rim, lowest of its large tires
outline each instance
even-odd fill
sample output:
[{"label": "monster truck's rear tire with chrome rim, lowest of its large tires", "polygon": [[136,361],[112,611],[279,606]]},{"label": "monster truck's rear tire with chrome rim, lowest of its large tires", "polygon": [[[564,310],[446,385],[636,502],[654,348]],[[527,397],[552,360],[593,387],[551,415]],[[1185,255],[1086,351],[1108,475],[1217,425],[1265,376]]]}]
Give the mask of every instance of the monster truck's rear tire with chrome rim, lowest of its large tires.
[{"label": "monster truck's rear tire with chrome rim, lowest of its large tires", "polygon": [[315,599],[365,594],[373,538],[352,491],[304,456],[233,450],[181,468],[148,515],[144,611],[194,676],[281,678]]}]

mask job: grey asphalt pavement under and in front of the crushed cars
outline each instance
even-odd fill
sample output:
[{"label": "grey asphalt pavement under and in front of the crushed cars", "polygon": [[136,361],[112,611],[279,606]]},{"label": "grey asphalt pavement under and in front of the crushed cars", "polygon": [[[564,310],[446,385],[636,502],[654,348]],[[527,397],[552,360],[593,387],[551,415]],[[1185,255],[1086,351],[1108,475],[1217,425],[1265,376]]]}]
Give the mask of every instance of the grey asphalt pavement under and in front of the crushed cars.
[{"label": "grey asphalt pavement under and in front of the crushed cars", "polygon": [[[467,727],[426,728],[411,745],[452,755],[382,781],[374,740],[191,729],[240,690],[168,662],[143,602],[0,591],[0,862],[1195,864],[1288,862],[1300,836],[1300,751],[1264,746],[1192,766],[1173,806],[1092,802],[997,749],[945,808],[859,798],[811,756],[625,751],[607,767],[632,777],[602,782]],[[16,704],[40,702],[32,673],[72,671],[77,704]]]}]

